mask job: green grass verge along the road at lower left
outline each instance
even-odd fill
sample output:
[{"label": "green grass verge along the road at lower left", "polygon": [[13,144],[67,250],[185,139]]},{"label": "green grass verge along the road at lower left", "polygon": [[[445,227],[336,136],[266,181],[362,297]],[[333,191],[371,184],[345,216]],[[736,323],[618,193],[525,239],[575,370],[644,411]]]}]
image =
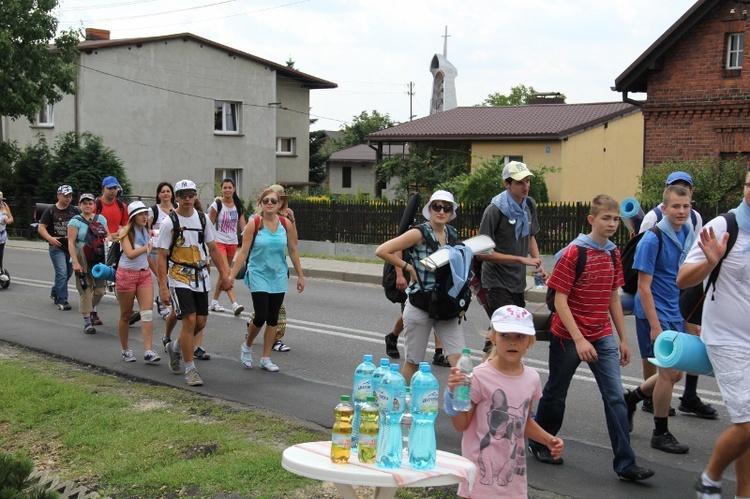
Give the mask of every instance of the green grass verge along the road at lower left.
[{"label": "green grass verge along the road at lower left", "polygon": [[[337,497],[281,467],[303,422],[0,343],[0,450],[116,498]],[[332,414],[333,417],[333,414]],[[455,497],[455,487],[397,497]]]}]

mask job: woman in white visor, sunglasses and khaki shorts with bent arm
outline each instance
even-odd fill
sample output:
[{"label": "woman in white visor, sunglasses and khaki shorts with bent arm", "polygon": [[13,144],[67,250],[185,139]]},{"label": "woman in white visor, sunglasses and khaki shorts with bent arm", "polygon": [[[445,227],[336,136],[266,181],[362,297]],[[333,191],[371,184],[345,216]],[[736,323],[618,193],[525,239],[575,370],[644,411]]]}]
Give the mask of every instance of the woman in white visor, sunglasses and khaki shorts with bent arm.
[{"label": "woman in white visor, sunglasses and khaki shorts with bent arm", "polygon": [[[425,306],[425,300],[430,296],[435,286],[435,272],[430,272],[421,261],[432,254],[430,246],[425,241],[422,230],[426,230],[439,246],[448,244],[449,234],[456,239],[456,229],[448,222],[456,218],[456,204],[453,194],[448,191],[435,191],[427,204],[422,208],[422,216],[427,220],[422,228],[413,227],[400,236],[384,242],[375,250],[375,254],[389,262],[394,267],[401,268],[411,276],[411,284],[406,289],[408,299],[404,307],[404,330],[406,332],[405,355],[406,361],[401,374],[409,383],[411,377],[419,369],[419,363],[424,360],[430,331],[435,330],[443,350],[451,365],[455,365],[461,356],[461,350],[466,346],[461,325],[457,320],[431,319]],[[397,254],[409,252],[411,262],[407,263]]]}]

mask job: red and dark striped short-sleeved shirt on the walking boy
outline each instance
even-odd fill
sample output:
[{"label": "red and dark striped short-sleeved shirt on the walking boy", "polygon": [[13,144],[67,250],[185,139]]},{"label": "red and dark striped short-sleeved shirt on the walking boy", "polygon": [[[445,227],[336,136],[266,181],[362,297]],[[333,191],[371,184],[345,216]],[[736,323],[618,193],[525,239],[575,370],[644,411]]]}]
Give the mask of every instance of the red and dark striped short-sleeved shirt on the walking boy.
[{"label": "red and dark striped short-sleeved shirt on the walking boy", "polygon": [[[578,246],[570,245],[552,270],[547,286],[568,295],[568,306],[578,329],[584,338],[595,341],[612,334],[609,299],[624,279],[619,250],[615,250],[614,265],[609,251],[590,248],[586,251],[586,266],[577,281]],[[550,331],[560,338],[571,339],[558,314],[552,319]]]}]

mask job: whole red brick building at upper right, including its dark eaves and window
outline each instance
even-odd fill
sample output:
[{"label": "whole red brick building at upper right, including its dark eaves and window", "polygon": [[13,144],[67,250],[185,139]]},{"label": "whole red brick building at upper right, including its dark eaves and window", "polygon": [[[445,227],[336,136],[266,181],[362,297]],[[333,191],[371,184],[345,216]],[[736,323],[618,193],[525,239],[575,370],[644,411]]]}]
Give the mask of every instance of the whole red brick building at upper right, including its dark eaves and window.
[{"label": "whole red brick building at upper right, including its dark eaves and window", "polygon": [[750,155],[748,13],[748,0],[699,0],[615,80],[642,108],[645,166]]}]

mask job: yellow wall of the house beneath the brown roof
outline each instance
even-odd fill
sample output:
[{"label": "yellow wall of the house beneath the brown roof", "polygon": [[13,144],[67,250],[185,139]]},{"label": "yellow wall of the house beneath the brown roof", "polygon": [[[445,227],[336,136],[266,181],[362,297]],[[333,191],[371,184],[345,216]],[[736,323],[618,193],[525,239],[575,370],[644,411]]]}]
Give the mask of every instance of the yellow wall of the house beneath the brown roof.
[{"label": "yellow wall of the house beneath the brown roof", "polygon": [[643,116],[634,113],[563,141],[474,142],[471,152],[472,168],[497,155],[522,156],[532,171],[559,167],[545,175],[551,202],[591,201],[597,194],[621,201],[635,195],[643,171]]}]

